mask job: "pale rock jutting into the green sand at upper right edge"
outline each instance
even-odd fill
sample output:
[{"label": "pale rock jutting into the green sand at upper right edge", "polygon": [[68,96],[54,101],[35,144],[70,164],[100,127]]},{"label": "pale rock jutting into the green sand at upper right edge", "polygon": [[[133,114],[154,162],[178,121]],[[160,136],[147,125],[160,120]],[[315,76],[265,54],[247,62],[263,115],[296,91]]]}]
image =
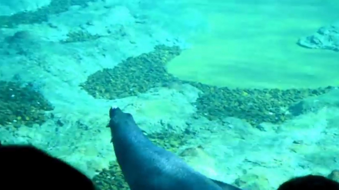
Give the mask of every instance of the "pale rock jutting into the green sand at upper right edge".
[{"label": "pale rock jutting into the green sand at upper right edge", "polygon": [[301,37],[297,44],[311,49],[329,49],[339,52],[339,24],[322,27],[313,35]]}]

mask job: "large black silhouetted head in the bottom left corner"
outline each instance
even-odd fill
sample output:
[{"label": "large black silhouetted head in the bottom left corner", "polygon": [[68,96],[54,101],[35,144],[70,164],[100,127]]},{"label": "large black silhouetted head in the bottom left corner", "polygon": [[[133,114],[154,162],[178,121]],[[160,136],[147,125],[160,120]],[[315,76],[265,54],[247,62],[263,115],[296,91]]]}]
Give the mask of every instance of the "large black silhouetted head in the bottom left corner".
[{"label": "large black silhouetted head in the bottom left corner", "polygon": [[0,146],[0,181],[1,190],[94,190],[80,171],[27,145]]}]

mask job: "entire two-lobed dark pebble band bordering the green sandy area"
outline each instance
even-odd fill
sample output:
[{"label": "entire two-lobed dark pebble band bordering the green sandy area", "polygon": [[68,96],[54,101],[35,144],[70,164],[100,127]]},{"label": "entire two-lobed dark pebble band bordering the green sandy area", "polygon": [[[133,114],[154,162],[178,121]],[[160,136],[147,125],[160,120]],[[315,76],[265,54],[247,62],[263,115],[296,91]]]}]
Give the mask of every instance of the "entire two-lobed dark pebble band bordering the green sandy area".
[{"label": "entire two-lobed dark pebble band bordering the green sandy area", "polygon": [[145,93],[156,87],[189,84],[202,91],[195,103],[201,116],[210,120],[236,117],[253,126],[263,122],[283,123],[294,116],[289,111],[293,104],[332,89],[229,89],[184,81],[169,74],[165,68],[166,63],[180,52],[178,47],[157,46],[153,52],[128,58],[113,69],[103,69],[90,75],[81,86],[95,98],[117,99]]}]

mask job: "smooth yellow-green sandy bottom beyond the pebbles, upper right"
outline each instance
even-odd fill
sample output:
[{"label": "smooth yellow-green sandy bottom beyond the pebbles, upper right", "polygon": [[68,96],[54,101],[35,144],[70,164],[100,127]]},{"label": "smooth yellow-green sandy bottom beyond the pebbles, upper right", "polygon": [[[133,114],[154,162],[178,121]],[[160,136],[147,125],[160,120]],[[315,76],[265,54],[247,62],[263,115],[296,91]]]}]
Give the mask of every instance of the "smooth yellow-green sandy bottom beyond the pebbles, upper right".
[{"label": "smooth yellow-green sandy bottom beyond the pebbles, upper right", "polygon": [[186,1],[208,30],[190,36],[192,48],[167,65],[169,73],[231,88],[339,86],[338,52],[296,44],[338,21],[338,0]]}]

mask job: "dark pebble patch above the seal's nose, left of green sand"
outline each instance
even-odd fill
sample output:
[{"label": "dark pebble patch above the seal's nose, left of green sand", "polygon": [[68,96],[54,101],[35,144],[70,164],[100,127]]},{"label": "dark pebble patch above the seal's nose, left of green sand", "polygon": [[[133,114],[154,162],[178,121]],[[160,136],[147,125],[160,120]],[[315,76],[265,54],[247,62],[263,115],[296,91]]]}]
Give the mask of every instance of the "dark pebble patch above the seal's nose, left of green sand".
[{"label": "dark pebble patch above the seal's nose, left of green sand", "polygon": [[157,46],[153,52],[131,57],[113,69],[90,75],[82,88],[95,98],[117,99],[151,88],[166,87],[178,79],[167,73],[164,65],[179,55],[178,47]]}]

